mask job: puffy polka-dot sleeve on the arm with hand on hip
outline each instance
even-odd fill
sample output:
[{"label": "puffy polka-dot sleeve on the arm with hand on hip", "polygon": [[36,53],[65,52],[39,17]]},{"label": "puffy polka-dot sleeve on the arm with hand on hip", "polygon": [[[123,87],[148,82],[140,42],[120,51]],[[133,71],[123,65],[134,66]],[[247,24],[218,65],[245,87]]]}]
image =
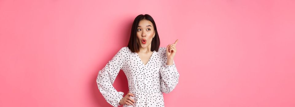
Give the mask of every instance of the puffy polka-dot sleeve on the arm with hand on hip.
[{"label": "puffy polka-dot sleeve on the arm with hand on hip", "polygon": [[118,92],[113,87],[113,83],[123,66],[123,54],[124,51],[123,48],[121,48],[116,55],[108,61],[107,65],[99,71],[96,78],[96,83],[100,93],[106,101],[114,107],[119,106],[119,102],[124,95],[124,92]]}]

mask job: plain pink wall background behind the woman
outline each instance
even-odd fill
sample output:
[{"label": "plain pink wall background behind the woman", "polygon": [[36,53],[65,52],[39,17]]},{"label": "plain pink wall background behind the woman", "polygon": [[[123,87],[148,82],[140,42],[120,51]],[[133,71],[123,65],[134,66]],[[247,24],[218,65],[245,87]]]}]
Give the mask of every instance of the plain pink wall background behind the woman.
[{"label": "plain pink wall background behind the woman", "polygon": [[[294,107],[294,13],[294,0],[0,0],[0,106],[110,106],[98,71],[149,14],[161,47],[179,39],[167,107]],[[124,72],[114,87],[127,93]]]}]

